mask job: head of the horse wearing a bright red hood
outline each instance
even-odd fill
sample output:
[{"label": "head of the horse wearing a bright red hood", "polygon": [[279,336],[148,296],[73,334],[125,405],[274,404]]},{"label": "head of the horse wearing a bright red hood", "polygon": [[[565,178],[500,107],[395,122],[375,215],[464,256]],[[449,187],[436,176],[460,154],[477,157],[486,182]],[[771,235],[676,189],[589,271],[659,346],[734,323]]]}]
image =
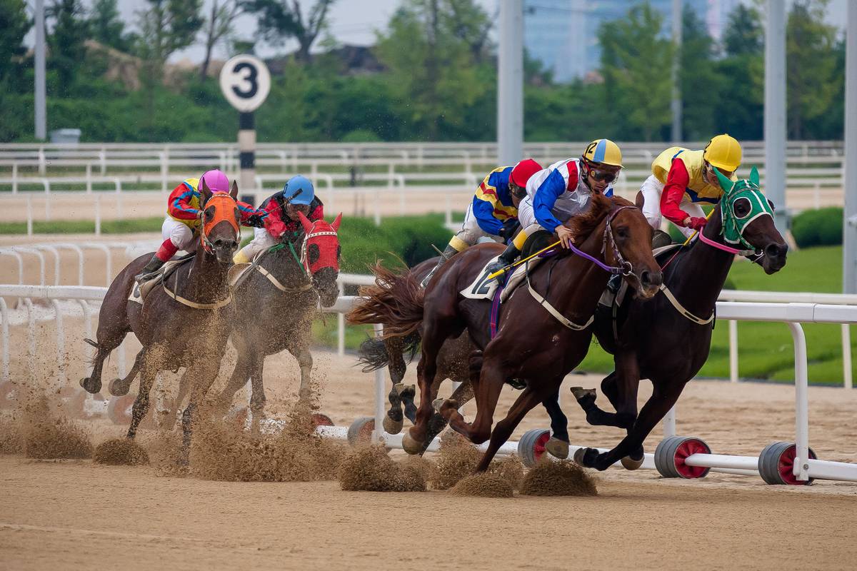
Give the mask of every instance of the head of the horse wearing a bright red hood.
[{"label": "head of the horse wearing a bright red hood", "polygon": [[342,213],[328,223],[324,219],[310,222],[303,212],[298,212],[303,232],[306,237],[301,247],[303,269],[312,278],[313,288],[321,298],[321,306],[330,307],[339,297],[339,256],[342,247],[339,246],[339,223]]}]

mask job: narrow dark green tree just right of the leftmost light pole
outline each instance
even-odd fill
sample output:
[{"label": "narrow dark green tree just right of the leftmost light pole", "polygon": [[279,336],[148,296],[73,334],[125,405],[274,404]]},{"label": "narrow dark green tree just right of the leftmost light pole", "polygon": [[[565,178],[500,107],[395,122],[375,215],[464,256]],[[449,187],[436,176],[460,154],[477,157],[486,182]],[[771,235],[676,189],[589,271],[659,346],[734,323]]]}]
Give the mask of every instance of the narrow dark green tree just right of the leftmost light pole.
[{"label": "narrow dark green tree just right of the leftmost light pole", "polygon": [[56,0],[45,15],[54,21],[47,38],[51,48],[47,63],[57,72],[57,95],[67,97],[87,56],[83,43],[89,35],[89,22],[80,0]]}]

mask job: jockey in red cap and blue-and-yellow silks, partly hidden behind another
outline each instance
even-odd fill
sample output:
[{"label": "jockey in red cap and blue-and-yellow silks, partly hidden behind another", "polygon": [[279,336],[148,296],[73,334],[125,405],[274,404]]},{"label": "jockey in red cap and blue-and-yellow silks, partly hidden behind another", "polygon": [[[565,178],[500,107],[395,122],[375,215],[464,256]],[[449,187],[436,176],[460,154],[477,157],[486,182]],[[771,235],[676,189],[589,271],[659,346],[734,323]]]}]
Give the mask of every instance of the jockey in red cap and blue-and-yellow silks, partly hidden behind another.
[{"label": "jockey in red cap and blue-and-yellow silks, partly hidden behind another", "polygon": [[542,170],[542,165],[525,158],[513,167],[498,167],[485,176],[467,206],[464,224],[440,254],[434,270],[423,278],[423,288],[441,265],[476,244],[480,238],[488,237],[500,243],[512,241],[518,229],[518,203],[526,196],[525,188],[530,176],[539,170]]}]

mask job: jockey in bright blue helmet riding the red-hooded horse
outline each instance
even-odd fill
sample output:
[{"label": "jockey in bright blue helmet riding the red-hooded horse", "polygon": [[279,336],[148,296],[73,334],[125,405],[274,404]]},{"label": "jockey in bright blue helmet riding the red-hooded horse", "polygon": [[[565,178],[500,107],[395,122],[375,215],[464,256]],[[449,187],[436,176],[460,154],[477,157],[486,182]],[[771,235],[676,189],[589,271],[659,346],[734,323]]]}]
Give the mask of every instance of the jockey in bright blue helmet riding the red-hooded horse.
[{"label": "jockey in bright blue helmet riding the red-hooded horse", "polygon": [[253,241],[235,254],[232,261],[236,264],[248,263],[257,253],[280,241],[297,241],[303,234],[298,212],[303,212],[310,222],[324,217],[324,205],[315,196],[313,183],[301,175],[292,176],[283,190],[265,199],[259,210],[263,223],[253,230]]}]

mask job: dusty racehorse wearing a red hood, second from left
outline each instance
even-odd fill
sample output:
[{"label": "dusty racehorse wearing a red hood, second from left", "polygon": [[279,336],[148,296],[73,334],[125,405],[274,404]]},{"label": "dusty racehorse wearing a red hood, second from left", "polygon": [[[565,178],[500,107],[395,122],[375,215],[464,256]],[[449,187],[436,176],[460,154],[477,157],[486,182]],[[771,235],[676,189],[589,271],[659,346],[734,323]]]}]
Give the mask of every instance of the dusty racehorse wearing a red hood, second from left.
[{"label": "dusty racehorse wearing a red hood, second from left", "polygon": [[297,359],[301,367],[298,394],[303,401],[309,399],[313,366],[309,339],[316,307],[320,298],[322,306],[333,306],[339,295],[341,247],[337,231],[342,214],[333,223],[310,222],[303,212],[298,216],[304,231],[300,253],[289,241],[271,247],[255,259],[235,288],[238,306],[245,310],[237,315],[231,336],[238,361],[219,400],[231,402],[249,378],[250,410],[254,416],[264,413],[265,357],[283,349]]}]

